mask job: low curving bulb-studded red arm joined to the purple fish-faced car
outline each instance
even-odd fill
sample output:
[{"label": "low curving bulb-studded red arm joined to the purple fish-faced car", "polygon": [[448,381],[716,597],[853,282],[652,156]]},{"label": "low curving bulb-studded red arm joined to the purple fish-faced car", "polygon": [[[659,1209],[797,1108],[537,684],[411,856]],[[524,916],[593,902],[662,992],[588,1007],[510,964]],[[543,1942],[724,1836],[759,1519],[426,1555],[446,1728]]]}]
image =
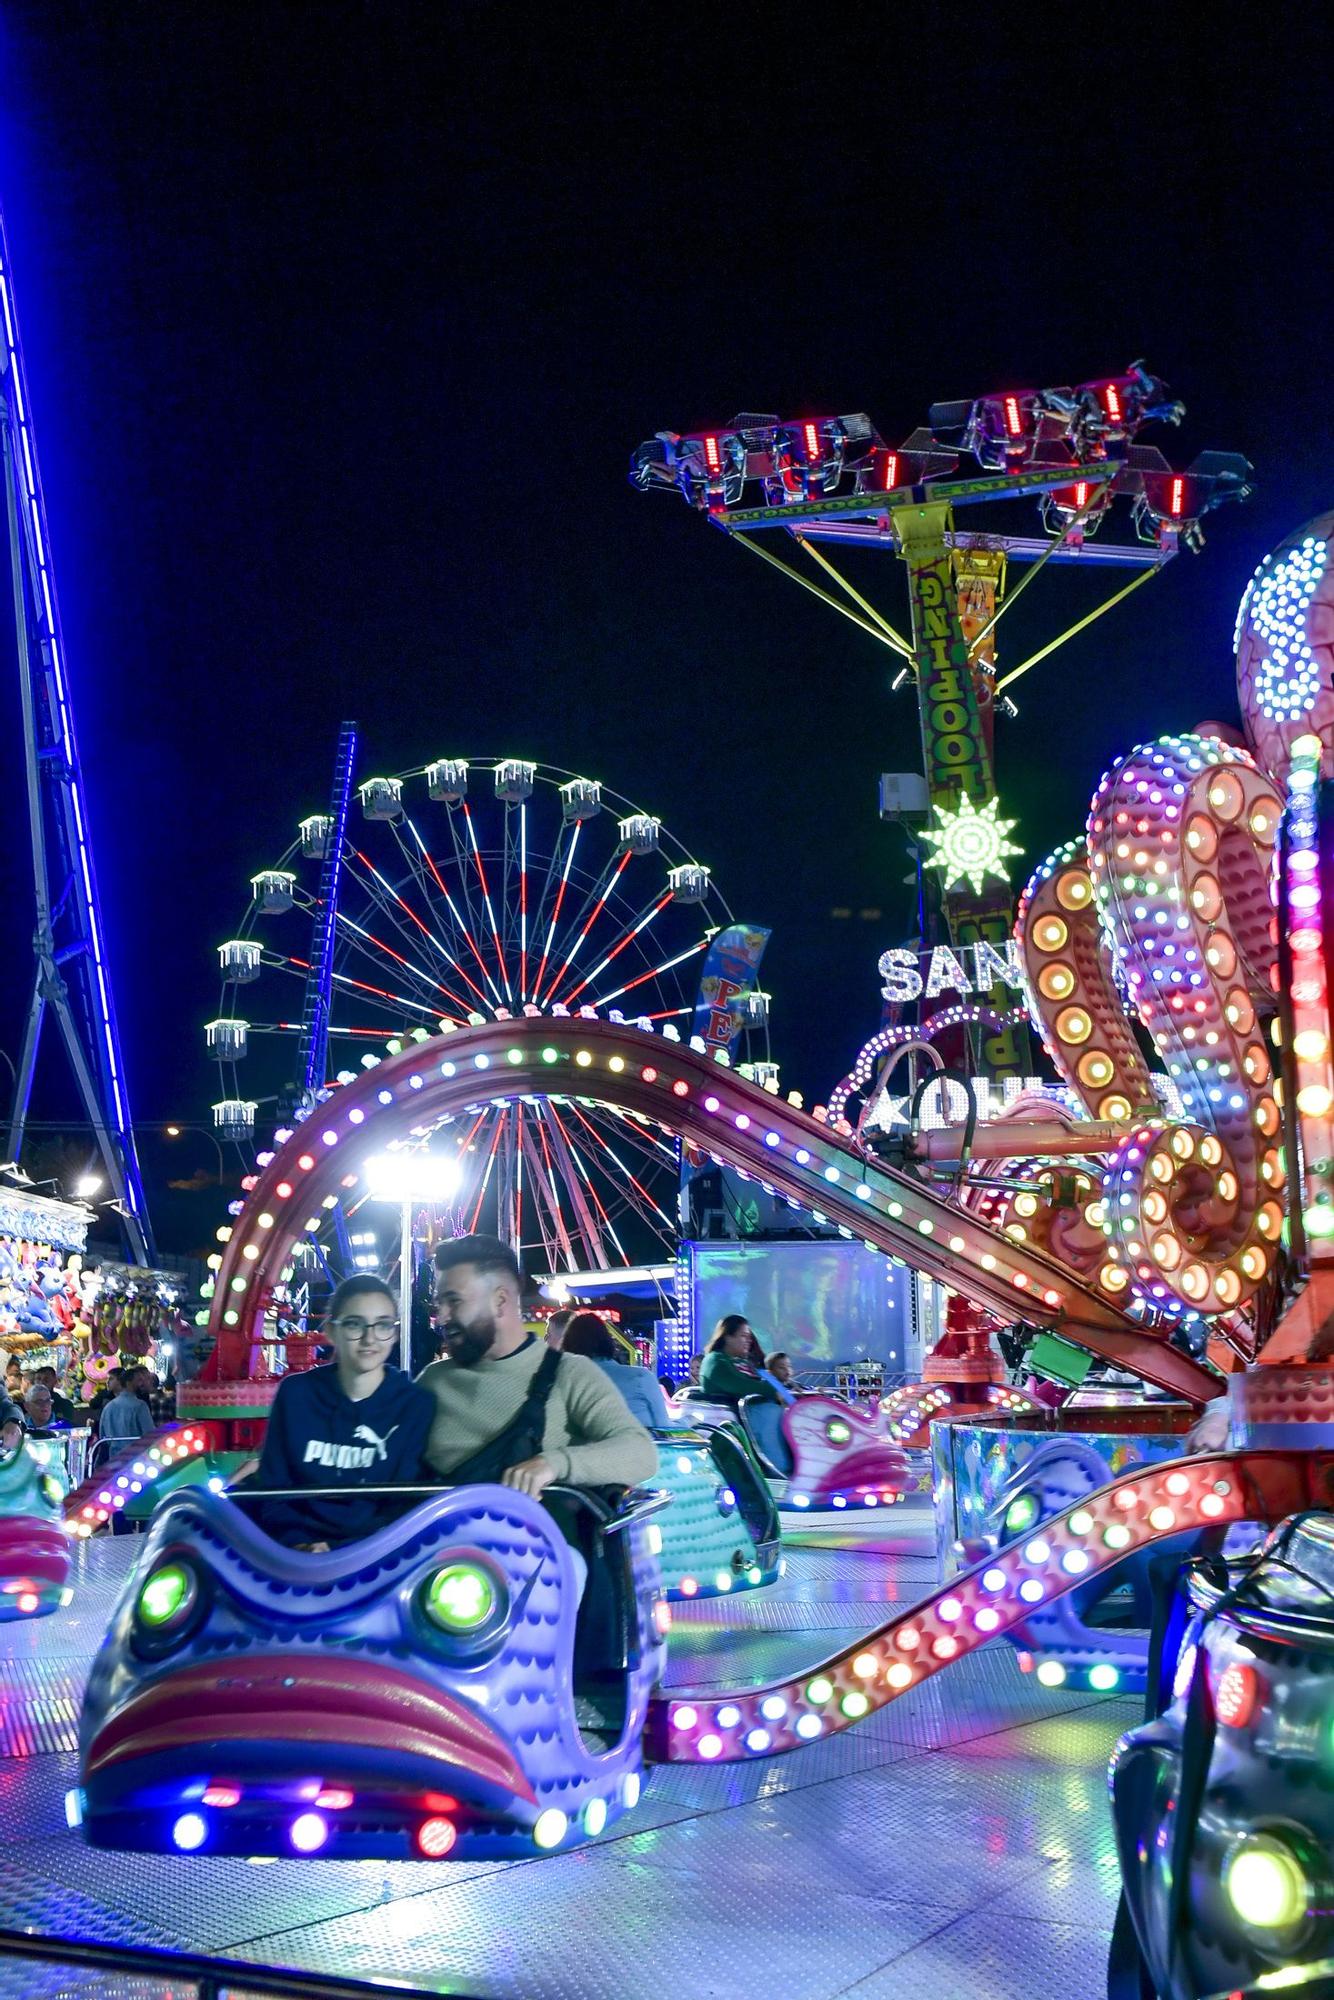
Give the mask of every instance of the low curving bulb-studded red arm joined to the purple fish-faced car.
[{"label": "low curving bulb-studded red arm joined to the purple fish-faced car", "polygon": [[952,1576],[804,1674],[718,1694],[674,1688],[650,1704],[648,1756],[726,1764],[800,1750],[884,1708],[944,1666],[1124,1556],[1192,1528],[1276,1524],[1334,1498],[1334,1452],[1210,1452],[1112,1480]]}]

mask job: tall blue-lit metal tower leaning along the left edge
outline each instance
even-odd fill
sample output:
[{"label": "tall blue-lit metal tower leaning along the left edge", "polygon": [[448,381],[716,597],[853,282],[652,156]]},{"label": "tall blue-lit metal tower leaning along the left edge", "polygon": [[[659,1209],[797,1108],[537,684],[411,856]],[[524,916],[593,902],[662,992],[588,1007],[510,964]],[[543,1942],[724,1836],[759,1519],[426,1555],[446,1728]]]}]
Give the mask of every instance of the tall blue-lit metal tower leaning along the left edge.
[{"label": "tall blue-lit metal tower leaning along the left edge", "polygon": [[10,530],[14,630],[24,714],[28,828],[36,930],[34,982],[14,1082],[6,1146],[18,1158],[32,1100],[46,1014],[54,1016],[84,1112],[96,1132],[130,1252],[152,1264],[152,1230],[134,1150],[102,912],[92,870],[92,830],[74,738],[70,670],[52,574],[46,502],[32,436],[32,400],[14,306],[10,246],[0,216],[0,454]]}]

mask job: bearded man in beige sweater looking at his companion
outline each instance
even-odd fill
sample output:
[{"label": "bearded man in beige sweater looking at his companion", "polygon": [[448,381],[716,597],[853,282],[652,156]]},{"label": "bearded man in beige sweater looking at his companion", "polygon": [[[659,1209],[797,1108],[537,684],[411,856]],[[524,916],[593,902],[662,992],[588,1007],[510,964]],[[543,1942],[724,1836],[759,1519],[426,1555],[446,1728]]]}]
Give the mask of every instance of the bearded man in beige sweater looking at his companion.
[{"label": "bearded man in beige sweater looking at his companion", "polygon": [[436,1398],[426,1458],[452,1486],[498,1480],[538,1500],[552,1482],[636,1486],[658,1450],[584,1354],[562,1354],[524,1326],[518,1258],[496,1236],[436,1250],[444,1360],[422,1370]]}]

